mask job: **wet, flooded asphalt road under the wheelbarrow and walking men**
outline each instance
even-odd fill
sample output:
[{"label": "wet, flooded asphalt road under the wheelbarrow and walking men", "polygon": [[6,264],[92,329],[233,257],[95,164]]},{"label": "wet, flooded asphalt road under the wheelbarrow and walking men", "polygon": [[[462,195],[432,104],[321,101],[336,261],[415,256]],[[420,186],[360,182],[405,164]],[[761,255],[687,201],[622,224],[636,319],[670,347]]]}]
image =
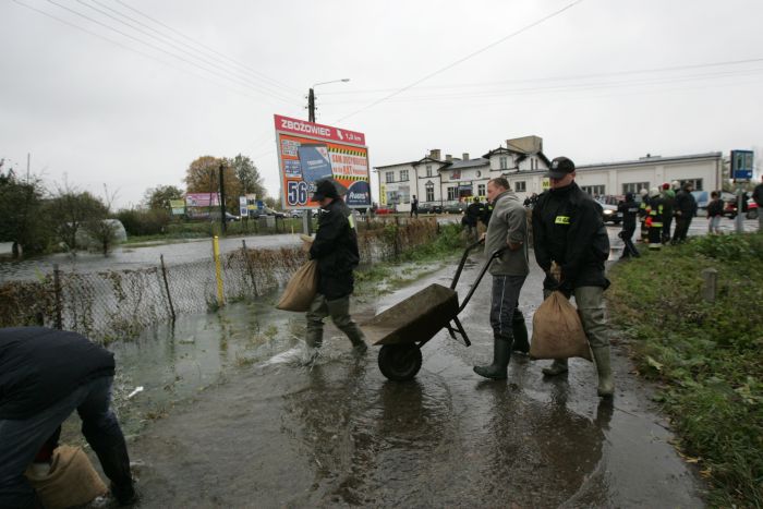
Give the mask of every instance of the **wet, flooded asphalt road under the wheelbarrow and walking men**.
[{"label": "wet, flooded asphalt road under the wheelbarrow and walking men", "polygon": [[[447,286],[453,270],[356,304],[354,316]],[[532,270],[520,298],[529,327],[541,303]],[[600,404],[583,360],[544,379],[548,361],[512,359],[509,379],[489,381],[472,372],[492,355],[488,303],[484,280],[460,315],[474,344],[438,334],[411,383],[384,378],[377,348],[353,357],[332,326],[312,369],[281,355],[229,374],[131,441],[141,507],[703,506],[617,335],[613,405]]]}]

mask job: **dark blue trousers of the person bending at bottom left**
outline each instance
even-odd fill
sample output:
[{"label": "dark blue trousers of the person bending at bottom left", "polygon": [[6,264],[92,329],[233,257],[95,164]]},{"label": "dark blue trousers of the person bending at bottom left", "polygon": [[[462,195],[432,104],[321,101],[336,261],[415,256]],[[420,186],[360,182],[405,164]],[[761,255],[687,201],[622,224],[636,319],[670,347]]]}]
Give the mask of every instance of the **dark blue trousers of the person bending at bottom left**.
[{"label": "dark blue trousers of the person bending at bottom left", "polygon": [[[75,362],[75,361],[72,361]],[[31,507],[34,490],[24,477],[37,451],[76,409],[82,434],[94,451],[124,443],[111,411],[111,377],[96,378],[24,420],[0,420],[0,507]]]}]

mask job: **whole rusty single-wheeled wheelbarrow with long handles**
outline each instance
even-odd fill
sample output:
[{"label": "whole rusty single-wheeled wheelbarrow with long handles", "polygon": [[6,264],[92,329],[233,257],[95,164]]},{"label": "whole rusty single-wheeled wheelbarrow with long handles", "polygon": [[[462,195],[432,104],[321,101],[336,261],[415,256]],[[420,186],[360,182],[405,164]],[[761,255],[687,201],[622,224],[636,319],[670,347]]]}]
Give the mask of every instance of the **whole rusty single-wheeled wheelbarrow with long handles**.
[{"label": "whole rusty single-wheeled wheelbarrow with long handles", "polygon": [[463,252],[450,288],[437,283],[429,284],[368,322],[361,324],[366,339],[373,346],[382,347],[378,364],[384,376],[397,381],[413,379],[421,369],[422,347],[443,328],[446,328],[455,340],[460,337],[467,347],[472,344],[458,319],[458,315],[467,307],[480,281],[493,260],[501,255],[502,250],[496,251],[485,260],[485,265],[461,304],[458,302],[456,284],[461,277],[469,253],[482,244],[482,240],[475,242]]}]

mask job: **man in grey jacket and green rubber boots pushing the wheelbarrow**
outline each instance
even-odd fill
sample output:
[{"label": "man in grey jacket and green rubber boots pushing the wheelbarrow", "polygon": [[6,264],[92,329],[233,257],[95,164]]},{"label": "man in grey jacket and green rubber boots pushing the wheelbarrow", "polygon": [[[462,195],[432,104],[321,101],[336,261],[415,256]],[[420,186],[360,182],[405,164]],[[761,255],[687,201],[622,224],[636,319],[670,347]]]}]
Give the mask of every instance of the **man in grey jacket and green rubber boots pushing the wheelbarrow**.
[{"label": "man in grey jacket and green rubber boots pushing the wheelbarrow", "polygon": [[[530,271],[528,265],[528,219],[524,207],[509,190],[505,177],[487,182],[487,199],[494,204],[491,223],[485,233],[485,256],[500,251],[491,265],[493,298],[491,327],[493,328],[493,364],[474,366],[474,373],[485,378],[504,379],[511,359],[514,311],[519,292]],[[521,316],[521,315],[520,315]],[[522,317],[522,325],[524,325]],[[526,341],[526,337],[524,338]],[[525,348],[521,346],[520,348]]]}]

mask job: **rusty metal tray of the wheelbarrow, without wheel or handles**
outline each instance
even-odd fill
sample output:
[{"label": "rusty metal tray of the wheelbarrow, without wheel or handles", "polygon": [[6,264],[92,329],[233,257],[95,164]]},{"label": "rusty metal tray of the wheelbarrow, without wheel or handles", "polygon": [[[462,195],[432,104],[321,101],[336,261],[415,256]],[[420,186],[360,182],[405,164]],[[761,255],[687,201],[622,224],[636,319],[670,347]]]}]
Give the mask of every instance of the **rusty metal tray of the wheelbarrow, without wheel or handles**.
[{"label": "rusty metal tray of the wheelbarrow, without wheel or handles", "polygon": [[429,284],[361,325],[372,344],[425,341],[458,315],[458,293]]}]

